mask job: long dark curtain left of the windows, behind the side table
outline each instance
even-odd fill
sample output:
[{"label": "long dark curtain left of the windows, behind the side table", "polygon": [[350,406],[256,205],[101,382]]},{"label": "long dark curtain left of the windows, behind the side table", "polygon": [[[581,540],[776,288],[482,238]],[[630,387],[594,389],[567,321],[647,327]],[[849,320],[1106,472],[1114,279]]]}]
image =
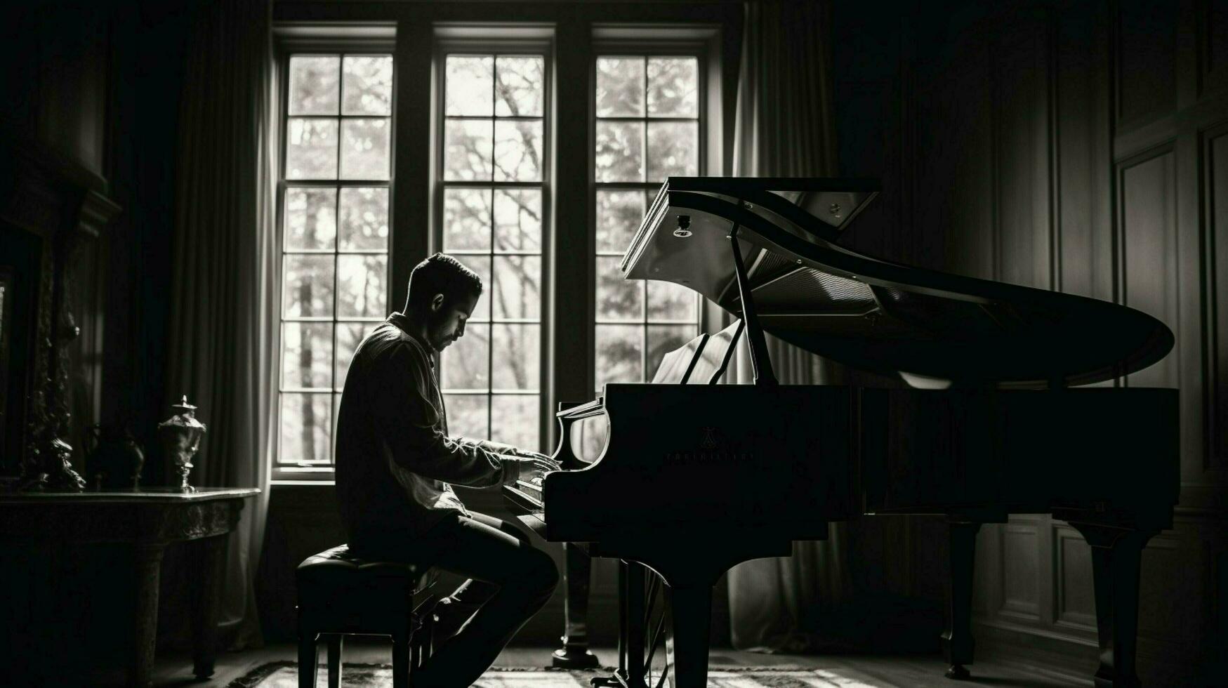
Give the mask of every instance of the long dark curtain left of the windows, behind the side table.
[{"label": "long dark curtain left of the windows, behind the side table", "polygon": [[179,106],[167,394],[209,429],[193,483],[257,487],[227,548],[221,638],[260,643],[255,570],[276,392],[271,2],[195,5]]}]

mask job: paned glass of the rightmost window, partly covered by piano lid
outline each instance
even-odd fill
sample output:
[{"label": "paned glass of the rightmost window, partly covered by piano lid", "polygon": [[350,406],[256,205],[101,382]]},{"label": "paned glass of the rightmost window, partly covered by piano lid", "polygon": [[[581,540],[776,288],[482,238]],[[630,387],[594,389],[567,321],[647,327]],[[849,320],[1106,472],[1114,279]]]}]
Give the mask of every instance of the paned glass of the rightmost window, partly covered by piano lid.
[{"label": "paned glass of the rightmost window, partly covered by piano lid", "polygon": [[596,59],[596,370],[642,382],[662,356],[699,332],[699,297],[683,286],[623,279],[623,254],[670,174],[699,174],[704,125],[694,54],[600,54]]}]

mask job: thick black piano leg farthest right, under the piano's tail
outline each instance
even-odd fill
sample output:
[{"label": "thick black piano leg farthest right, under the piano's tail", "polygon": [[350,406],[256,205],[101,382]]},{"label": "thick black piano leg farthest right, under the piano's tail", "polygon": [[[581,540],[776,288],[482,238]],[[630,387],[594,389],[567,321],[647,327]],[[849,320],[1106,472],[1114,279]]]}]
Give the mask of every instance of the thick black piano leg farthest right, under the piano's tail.
[{"label": "thick black piano leg farthest right, under the piano's tail", "polygon": [[1143,547],[1156,531],[1102,523],[1072,522],[1071,526],[1092,545],[1095,625],[1100,644],[1095,687],[1137,688],[1138,568]]}]

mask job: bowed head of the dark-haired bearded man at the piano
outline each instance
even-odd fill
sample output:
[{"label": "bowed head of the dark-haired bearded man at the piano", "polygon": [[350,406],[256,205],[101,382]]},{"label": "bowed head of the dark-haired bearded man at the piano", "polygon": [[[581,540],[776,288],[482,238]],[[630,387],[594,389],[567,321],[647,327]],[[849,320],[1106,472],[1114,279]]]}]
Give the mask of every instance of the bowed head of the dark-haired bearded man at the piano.
[{"label": "bowed head of the dark-haired bearded man at the piano", "polygon": [[436,253],[409,274],[405,315],[422,326],[426,340],[443,350],[464,334],[481,296],[481,278],[459,260]]}]

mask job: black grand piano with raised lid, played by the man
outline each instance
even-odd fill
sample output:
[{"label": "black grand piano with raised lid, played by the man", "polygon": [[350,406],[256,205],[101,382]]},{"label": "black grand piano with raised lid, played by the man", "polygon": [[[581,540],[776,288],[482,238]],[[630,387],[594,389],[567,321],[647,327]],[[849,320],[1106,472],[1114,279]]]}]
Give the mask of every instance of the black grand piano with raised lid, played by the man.
[{"label": "black grand piano with raised lid, played by the man", "polygon": [[[1092,547],[1094,682],[1137,686],[1140,557],[1172,526],[1178,399],[1127,376],[1164,358],[1172,332],[1121,305],[841,246],[877,193],[867,179],[670,177],[621,272],[688,286],[733,324],[667,355],[651,383],[560,404],[561,469],[506,487],[506,501],[572,543],[570,563],[621,561],[615,678],[629,688],[646,686],[636,571],[663,581],[672,683],[701,688],[723,571],[788,555],[829,522],[892,514],[948,522],[948,677],[973,661],[981,523],[1051,514]],[[781,385],[765,334],[900,383]],[[740,338],[754,382],[717,385]],[[581,570],[575,559],[569,577]],[[569,604],[581,604],[583,581],[571,584]],[[569,624],[578,617],[569,608]]]}]

